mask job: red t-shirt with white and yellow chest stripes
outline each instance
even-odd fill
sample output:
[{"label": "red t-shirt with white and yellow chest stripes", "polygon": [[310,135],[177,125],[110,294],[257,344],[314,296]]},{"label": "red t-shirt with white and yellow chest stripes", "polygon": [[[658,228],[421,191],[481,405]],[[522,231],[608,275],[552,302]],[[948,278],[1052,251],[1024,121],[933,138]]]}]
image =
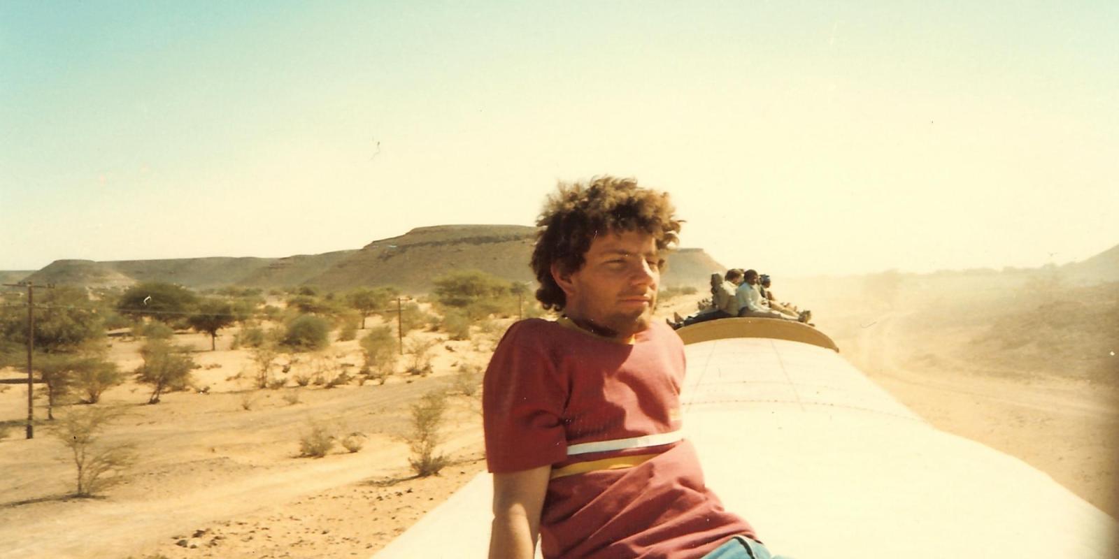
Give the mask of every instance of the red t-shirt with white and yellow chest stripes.
[{"label": "red t-shirt with white and yellow chest stripes", "polygon": [[653,323],[626,344],[570,321],[514,324],[486,371],[490,472],[551,465],[544,557],[699,558],[754,537],[680,437],[684,344]]}]

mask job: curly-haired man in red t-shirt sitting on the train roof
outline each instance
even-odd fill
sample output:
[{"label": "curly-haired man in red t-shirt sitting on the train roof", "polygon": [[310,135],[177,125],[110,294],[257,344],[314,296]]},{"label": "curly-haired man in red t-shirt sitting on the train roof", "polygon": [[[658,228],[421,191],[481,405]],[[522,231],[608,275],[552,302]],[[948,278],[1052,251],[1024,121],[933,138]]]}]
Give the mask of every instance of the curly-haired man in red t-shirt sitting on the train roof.
[{"label": "curly-haired man in red t-shirt sitting on the train roof", "polygon": [[483,385],[490,558],[769,558],[707,490],[680,428],[684,345],[653,320],[680,221],[632,179],[561,183],[537,226],[536,296]]}]

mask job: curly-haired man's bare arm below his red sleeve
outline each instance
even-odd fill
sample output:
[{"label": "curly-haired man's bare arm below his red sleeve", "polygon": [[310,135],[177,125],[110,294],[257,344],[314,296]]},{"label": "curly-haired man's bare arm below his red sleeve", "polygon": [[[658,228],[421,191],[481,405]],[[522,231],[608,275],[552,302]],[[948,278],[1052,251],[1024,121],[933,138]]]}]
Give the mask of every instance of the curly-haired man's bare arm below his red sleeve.
[{"label": "curly-haired man's bare arm below his red sleeve", "polygon": [[552,466],[493,474],[489,559],[532,559]]}]

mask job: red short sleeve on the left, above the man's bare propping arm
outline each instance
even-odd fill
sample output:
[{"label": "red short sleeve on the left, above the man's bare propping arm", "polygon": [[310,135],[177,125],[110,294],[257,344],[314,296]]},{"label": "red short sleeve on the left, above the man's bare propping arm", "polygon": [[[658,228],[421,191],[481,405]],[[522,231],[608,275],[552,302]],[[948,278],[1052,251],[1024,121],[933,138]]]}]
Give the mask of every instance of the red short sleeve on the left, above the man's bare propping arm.
[{"label": "red short sleeve on the left, above the man's bare propping arm", "polygon": [[486,462],[493,473],[551,465],[567,456],[562,420],[566,382],[544,351],[544,332],[523,326],[515,324],[498,343],[482,381]]}]

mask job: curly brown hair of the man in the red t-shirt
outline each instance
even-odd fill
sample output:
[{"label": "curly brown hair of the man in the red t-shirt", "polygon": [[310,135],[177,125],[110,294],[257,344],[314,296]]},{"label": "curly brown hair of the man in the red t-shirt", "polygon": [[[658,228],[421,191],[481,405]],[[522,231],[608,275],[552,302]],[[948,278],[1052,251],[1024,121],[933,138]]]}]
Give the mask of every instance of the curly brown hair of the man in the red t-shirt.
[{"label": "curly brown hair of the man in the red t-shirt", "polygon": [[536,299],[545,309],[562,311],[567,296],[552,277],[552,265],[564,272],[583,266],[591,241],[600,234],[640,230],[657,241],[658,250],[677,243],[683,220],[667,192],[638,187],[637,179],[594,177],[590,182],[560,182],[536,219],[532,267],[540,288]]}]

